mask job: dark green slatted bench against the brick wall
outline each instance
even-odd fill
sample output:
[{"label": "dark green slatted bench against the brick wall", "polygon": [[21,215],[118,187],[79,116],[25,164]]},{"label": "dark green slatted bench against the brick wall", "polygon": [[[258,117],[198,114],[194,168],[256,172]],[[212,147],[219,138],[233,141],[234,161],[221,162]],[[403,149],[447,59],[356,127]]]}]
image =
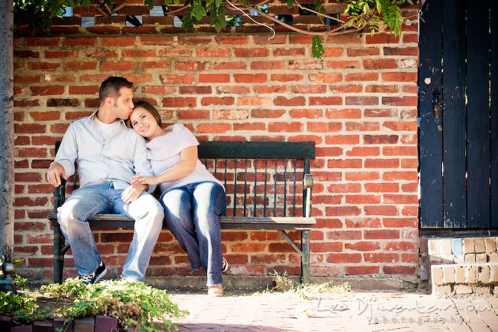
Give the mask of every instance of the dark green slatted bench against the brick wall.
[{"label": "dark green slatted bench against the brick wall", "polygon": [[[59,144],[60,142],[57,142],[56,149]],[[315,219],[311,217],[311,188],[313,187],[313,176],[310,174],[310,159],[315,158],[315,142],[200,142],[199,158],[205,160],[205,163],[207,163],[208,159],[214,159],[214,165],[216,165],[216,160],[219,160],[220,158],[246,160],[246,165],[248,159],[285,159],[294,160],[294,163],[296,163],[296,160],[304,161],[304,167],[302,168],[304,174],[302,196],[303,216],[266,216],[266,208],[265,216],[246,216],[246,193],[244,192],[243,216],[222,216],[220,223],[222,229],[229,230],[278,230],[288,243],[290,243],[299,253],[301,257],[302,282],[308,283],[310,267],[310,231],[316,223]],[[237,174],[237,161],[235,165],[236,169],[234,172]],[[255,176],[255,181],[256,183],[259,183],[257,177],[259,176]],[[284,174],[284,177],[287,177],[287,174]],[[266,190],[266,174],[264,178],[264,187]],[[234,176],[234,181],[235,199],[235,196],[237,195],[237,176]],[[266,192],[264,194],[266,201]],[[48,219],[54,228],[54,282],[57,283],[62,282],[64,254],[69,249],[69,244],[64,245],[64,236],[62,235],[59,223],[57,222],[56,213],[57,208],[64,203],[65,197],[66,185],[64,181],[62,185],[56,187],[54,190],[54,212],[48,214]],[[132,219],[121,214],[97,214],[89,219],[91,228],[133,228],[133,223],[134,221]],[[301,232],[301,248],[299,248],[297,243],[288,236],[286,230],[297,230]]]}]

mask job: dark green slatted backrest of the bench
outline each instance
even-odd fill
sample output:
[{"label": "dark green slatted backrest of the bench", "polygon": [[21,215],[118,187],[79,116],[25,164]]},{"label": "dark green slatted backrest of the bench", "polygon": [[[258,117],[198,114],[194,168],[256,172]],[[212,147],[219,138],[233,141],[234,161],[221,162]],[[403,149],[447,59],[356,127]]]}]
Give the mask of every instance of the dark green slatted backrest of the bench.
[{"label": "dark green slatted backrest of the bench", "polygon": [[[304,216],[302,182],[313,158],[315,142],[199,142],[199,159],[225,186],[227,216]],[[54,199],[55,209],[64,203],[64,185]]]}]

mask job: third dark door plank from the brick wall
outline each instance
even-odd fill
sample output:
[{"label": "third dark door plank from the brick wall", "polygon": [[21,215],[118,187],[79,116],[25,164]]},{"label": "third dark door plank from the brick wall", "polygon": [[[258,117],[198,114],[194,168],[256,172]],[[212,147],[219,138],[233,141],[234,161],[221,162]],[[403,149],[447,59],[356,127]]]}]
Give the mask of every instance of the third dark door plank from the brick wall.
[{"label": "third dark door plank from the brick wall", "polygon": [[467,2],[467,227],[488,227],[489,39],[488,0]]}]

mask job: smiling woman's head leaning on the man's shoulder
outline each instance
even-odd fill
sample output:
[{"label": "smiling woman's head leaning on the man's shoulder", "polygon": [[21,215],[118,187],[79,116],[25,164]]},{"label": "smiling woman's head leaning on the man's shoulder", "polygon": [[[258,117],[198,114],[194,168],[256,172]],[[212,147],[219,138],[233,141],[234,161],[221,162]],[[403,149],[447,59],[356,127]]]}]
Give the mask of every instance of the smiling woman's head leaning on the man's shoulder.
[{"label": "smiling woman's head leaning on the man's shoulder", "polygon": [[160,115],[156,107],[145,100],[139,100],[135,103],[133,112],[128,121],[129,127],[133,128],[138,135],[151,140],[162,135]]}]

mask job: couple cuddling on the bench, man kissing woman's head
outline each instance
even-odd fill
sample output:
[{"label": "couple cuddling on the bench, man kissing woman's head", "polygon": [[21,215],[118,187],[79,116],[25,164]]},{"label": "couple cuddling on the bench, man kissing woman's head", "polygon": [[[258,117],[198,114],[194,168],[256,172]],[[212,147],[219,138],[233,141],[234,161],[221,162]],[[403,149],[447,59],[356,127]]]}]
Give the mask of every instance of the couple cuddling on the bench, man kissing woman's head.
[{"label": "couple cuddling on the bench, man kissing woman's head", "polygon": [[[94,284],[107,273],[87,219],[114,212],[135,220],[123,279],[145,281],[165,219],[192,269],[205,269],[208,295],[221,296],[221,273],[228,268],[219,223],[226,208],[223,185],[199,160],[192,133],[183,124],[163,130],[154,106],[133,104],[132,87],[123,77],[102,82],[98,111],[71,123],[48,168],[55,187],[75,173],[75,162],[80,172],[80,188],[57,211],[78,277]],[[150,194],[156,185],[159,201]]]}]

